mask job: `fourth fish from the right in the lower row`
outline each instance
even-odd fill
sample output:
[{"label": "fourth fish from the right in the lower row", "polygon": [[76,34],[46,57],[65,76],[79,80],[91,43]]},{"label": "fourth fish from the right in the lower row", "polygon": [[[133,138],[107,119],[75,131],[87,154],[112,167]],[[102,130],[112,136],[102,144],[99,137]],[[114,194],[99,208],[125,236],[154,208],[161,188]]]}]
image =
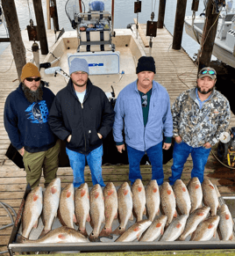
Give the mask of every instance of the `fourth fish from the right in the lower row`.
[{"label": "fourth fish from the right in the lower row", "polygon": [[182,232],[185,228],[189,216],[182,215],[175,218],[165,230],[163,236],[160,238],[160,241],[175,241],[182,235]]}]

